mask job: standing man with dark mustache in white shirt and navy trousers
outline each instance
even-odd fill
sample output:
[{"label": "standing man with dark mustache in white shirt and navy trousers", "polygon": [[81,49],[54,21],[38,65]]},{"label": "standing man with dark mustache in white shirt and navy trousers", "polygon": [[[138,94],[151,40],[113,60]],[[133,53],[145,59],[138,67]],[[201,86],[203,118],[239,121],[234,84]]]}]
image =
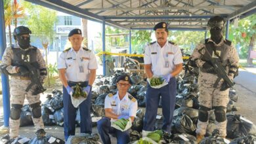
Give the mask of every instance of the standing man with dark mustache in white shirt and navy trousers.
[{"label": "standing man with dark mustache in white shirt and navy trousers", "polygon": [[144,69],[146,77],[163,77],[168,84],[161,88],[152,88],[148,84],[146,90],[146,113],[142,134],[154,131],[154,124],[158,112],[158,103],[161,96],[163,107],[163,126],[171,134],[171,122],[175,109],[176,79],[182,70],[181,49],[171,41],[167,41],[168,29],[165,22],[160,22],[154,27],[157,41],[146,46],[144,52]]}]

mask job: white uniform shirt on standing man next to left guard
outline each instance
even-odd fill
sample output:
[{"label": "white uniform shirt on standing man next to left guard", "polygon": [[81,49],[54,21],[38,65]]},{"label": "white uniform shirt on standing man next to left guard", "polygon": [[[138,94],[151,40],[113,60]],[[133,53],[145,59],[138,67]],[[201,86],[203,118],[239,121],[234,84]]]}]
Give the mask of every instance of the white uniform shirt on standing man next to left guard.
[{"label": "white uniform shirt on standing man next to left guard", "polygon": [[58,69],[66,69],[66,79],[73,82],[89,80],[89,69],[98,69],[95,54],[82,47],[75,52],[73,48],[64,50],[58,58]]}]

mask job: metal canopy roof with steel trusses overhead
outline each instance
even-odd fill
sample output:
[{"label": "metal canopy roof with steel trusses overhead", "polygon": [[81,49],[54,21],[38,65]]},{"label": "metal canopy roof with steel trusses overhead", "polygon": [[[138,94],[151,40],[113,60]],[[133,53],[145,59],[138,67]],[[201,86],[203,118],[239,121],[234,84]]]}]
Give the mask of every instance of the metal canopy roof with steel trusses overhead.
[{"label": "metal canopy roof with steel trusses overhead", "polygon": [[207,20],[228,20],[256,12],[255,0],[26,0],[50,9],[124,29],[152,29],[167,22],[169,29],[206,29]]}]

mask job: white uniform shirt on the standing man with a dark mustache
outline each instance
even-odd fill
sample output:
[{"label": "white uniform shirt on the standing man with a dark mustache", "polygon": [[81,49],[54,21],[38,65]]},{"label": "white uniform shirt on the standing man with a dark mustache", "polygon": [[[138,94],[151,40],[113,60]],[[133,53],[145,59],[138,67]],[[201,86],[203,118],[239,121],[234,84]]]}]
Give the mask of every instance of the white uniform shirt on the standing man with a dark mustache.
[{"label": "white uniform shirt on the standing man with a dark mustache", "polygon": [[152,72],[156,76],[171,73],[179,63],[183,63],[181,49],[169,41],[162,48],[158,42],[145,48],[144,64],[152,64]]}]

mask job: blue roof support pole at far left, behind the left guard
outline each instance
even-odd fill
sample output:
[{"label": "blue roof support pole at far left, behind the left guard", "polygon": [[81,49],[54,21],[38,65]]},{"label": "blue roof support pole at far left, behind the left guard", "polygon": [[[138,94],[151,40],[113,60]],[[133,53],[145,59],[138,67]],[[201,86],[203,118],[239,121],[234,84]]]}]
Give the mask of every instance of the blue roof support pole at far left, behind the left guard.
[{"label": "blue roof support pole at far left, behind the left guard", "polygon": [[[3,52],[6,47],[5,37],[5,14],[3,11],[3,1],[0,1],[0,60],[2,60]],[[9,93],[9,78],[5,74],[1,74],[2,92],[3,92],[3,126],[9,126],[10,116],[10,93]]]}]

